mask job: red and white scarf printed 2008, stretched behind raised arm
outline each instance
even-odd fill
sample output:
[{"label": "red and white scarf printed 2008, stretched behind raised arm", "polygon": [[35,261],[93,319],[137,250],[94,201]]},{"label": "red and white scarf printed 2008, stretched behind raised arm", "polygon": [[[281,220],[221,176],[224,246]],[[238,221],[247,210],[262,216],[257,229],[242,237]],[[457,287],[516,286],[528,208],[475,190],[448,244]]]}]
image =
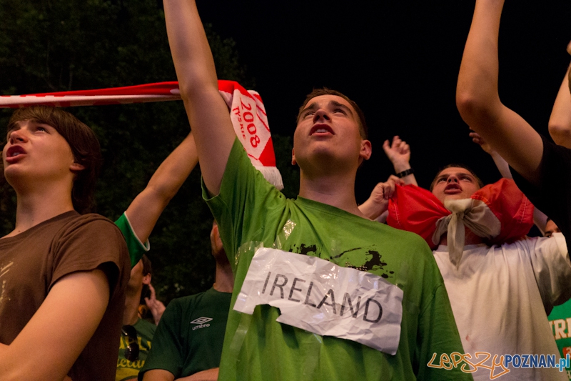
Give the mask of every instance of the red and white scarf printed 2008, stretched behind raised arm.
[{"label": "red and white scarf printed 2008, stretched behind raised arm", "polygon": [[[228,105],[234,132],[256,169],[276,188],[283,189],[281,174],[268,127],[266,108],[257,91],[246,90],[235,81],[218,81],[218,91]],[[0,107],[20,108],[37,105],[51,107],[100,106],[181,99],[178,82],[159,82],[109,89],[60,91],[43,94],[3,95]]]}]

